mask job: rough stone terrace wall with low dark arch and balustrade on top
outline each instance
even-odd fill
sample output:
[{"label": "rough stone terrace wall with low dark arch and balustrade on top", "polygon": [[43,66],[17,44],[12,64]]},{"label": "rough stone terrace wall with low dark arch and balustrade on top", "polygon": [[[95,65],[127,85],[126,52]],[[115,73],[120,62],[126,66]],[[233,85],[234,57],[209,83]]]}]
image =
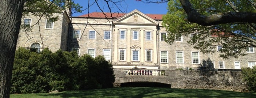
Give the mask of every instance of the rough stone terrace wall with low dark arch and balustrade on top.
[{"label": "rough stone terrace wall with low dark arch and balustrade on top", "polygon": [[247,92],[241,71],[179,71],[114,68],[114,87],[129,82],[170,84],[171,88],[199,88]]}]

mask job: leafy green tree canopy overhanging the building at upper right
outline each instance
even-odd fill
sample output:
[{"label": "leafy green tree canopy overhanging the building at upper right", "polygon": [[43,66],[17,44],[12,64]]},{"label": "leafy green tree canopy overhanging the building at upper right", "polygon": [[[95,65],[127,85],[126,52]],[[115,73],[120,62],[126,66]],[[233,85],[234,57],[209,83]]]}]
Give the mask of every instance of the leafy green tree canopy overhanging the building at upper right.
[{"label": "leafy green tree canopy overhanging the building at upper right", "polygon": [[[187,41],[195,49],[202,53],[214,53],[216,46],[221,45],[220,57],[228,59],[245,56],[248,47],[256,47],[255,23],[231,22],[217,23],[211,26],[202,26],[188,20],[189,16],[182,7],[182,1],[170,0],[168,2],[168,12],[163,16],[163,26],[168,31],[167,42],[172,44],[176,35],[190,37],[196,34],[193,40]],[[189,0],[192,7],[201,16],[211,16],[209,19],[218,18],[218,14],[225,12],[252,12],[256,9],[253,0]],[[192,15],[193,16],[193,15]],[[219,15],[220,16],[220,15]]]}]

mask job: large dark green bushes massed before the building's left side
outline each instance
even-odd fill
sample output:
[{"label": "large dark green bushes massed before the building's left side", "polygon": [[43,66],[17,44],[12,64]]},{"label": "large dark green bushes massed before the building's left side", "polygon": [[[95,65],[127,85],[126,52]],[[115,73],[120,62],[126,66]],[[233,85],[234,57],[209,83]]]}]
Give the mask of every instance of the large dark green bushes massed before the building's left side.
[{"label": "large dark green bushes massed before the building's left side", "polygon": [[103,56],[78,57],[76,52],[24,48],[16,51],[11,93],[47,93],[53,90],[109,88],[114,83],[112,65]]}]

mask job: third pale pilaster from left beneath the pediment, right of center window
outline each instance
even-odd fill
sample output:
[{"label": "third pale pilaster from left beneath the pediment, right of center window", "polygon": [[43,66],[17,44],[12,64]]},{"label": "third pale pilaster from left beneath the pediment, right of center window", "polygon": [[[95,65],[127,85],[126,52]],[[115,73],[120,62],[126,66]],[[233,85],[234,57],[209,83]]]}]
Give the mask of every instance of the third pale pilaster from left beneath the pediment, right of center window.
[{"label": "third pale pilaster from left beneath the pediment, right of center window", "polygon": [[144,29],[140,29],[140,64],[144,65]]}]

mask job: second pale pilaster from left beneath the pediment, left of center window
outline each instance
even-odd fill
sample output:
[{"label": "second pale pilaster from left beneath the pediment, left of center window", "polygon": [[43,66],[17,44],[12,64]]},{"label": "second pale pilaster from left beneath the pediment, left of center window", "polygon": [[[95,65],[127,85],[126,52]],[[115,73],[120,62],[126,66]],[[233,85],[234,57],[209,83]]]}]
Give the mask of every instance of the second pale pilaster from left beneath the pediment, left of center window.
[{"label": "second pale pilaster from left beneath the pediment, left of center window", "polygon": [[127,52],[126,52],[126,61],[127,64],[131,64],[131,29],[127,29],[127,40],[126,40],[126,44],[127,44]]}]

